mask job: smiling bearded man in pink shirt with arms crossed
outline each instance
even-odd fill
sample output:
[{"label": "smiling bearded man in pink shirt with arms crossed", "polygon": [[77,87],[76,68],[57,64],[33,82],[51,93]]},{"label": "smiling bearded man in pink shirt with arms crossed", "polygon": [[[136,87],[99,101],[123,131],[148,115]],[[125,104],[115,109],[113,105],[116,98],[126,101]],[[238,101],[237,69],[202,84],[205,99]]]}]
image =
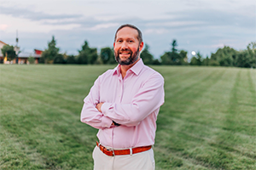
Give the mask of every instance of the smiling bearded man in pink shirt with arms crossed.
[{"label": "smiling bearded man in pink shirt with arms crossed", "polygon": [[142,32],[120,26],[113,50],[119,63],[96,79],[84,99],[81,122],[99,129],[96,170],[154,169],[156,118],[164,103],[164,78],[143,64]]}]

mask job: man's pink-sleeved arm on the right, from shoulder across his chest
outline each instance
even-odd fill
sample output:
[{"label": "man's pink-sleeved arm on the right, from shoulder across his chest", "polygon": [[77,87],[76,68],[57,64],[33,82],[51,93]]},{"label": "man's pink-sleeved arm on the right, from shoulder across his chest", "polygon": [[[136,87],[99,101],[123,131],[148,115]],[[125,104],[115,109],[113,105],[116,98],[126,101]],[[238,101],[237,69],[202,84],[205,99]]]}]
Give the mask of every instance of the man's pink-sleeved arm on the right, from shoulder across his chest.
[{"label": "man's pink-sleeved arm on the right, from shoulder across his chest", "polygon": [[164,103],[164,80],[159,76],[145,82],[131,103],[104,103],[101,111],[114,122],[125,126],[137,126],[143,119]]}]

